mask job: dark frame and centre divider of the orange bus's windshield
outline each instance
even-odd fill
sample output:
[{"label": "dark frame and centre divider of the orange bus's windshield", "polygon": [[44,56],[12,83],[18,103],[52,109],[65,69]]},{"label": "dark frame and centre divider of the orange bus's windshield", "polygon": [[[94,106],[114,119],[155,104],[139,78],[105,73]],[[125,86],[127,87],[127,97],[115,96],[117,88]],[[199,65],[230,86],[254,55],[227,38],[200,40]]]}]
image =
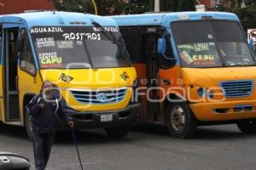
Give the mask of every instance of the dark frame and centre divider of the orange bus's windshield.
[{"label": "dark frame and centre divider of the orange bus's windshield", "polygon": [[[205,19],[205,20],[175,20],[175,21],[171,21],[169,26],[170,26],[170,29],[171,29],[171,32],[172,32],[172,40],[174,42],[175,50],[177,52],[177,58],[178,58],[178,61],[179,61],[180,65],[181,65],[181,67],[183,67],[183,64],[181,62],[180,54],[178,53],[177,42],[175,41],[175,34],[173,34],[173,31],[172,31],[172,24],[180,23],[180,22],[202,22],[202,21],[207,21],[207,20],[236,22],[236,24],[238,24],[238,26],[241,28],[241,31],[243,31],[243,38],[245,38],[245,40],[247,40],[247,37],[246,37],[246,35],[244,33],[244,30],[243,30],[243,28],[241,26],[241,23],[238,20],[227,20],[227,19],[221,20],[221,19],[213,19],[212,18],[212,19]],[[212,26],[210,26],[209,28],[211,29],[212,34],[215,35],[215,32],[212,30],[213,29]],[[214,36],[213,40],[216,43],[216,46],[218,47],[218,42],[217,42],[215,36]],[[241,67],[241,66],[243,66],[243,65],[224,65],[223,56],[221,55],[219,48],[217,48],[217,51],[218,51],[218,55],[220,56],[220,60],[222,62],[222,66],[183,67],[183,68],[201,68],[201,69],[206,69],[206,68],[224,68],[224,67]],[[252,56],[254,56],[251,49],[250,49],[250,53],[252,54]],[[256,58],[253,57],[253,59],[256,62]],[[252,66],[252,65],[245,65],[245,66]],[[253,65],[253,66],[256,66],[256,65]]]}]

